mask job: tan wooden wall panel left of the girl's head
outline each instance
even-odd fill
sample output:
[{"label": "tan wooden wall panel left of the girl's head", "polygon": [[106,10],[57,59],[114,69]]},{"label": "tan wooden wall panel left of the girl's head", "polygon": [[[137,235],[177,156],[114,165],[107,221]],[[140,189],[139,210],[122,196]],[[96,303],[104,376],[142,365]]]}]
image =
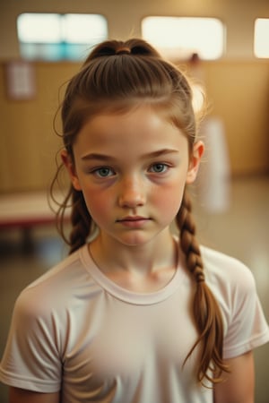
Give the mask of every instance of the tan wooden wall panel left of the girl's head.
[{"label": "tan wooden wall panel left of the girl's head", "polygon": [[[35,64],[37,95],[32,100],[8,99],[4,81],[0,93],[0,192],[48,187],[55,172],[61,140],[53,129],[62,84],[76,64]],[[4,65],[1,64],[1,76]]]}]

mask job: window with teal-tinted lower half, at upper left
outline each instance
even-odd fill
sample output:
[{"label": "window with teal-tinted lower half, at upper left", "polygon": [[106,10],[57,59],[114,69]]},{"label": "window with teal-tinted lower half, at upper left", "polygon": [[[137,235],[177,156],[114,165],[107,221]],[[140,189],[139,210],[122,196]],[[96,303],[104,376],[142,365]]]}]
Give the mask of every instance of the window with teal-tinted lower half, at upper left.
[{"label": "window with teal-tinted lower half, at upper left", "polygon": [[17,30],[25,59],[82,59],[108,38],[107,20],[100,14],[22,13]]}]

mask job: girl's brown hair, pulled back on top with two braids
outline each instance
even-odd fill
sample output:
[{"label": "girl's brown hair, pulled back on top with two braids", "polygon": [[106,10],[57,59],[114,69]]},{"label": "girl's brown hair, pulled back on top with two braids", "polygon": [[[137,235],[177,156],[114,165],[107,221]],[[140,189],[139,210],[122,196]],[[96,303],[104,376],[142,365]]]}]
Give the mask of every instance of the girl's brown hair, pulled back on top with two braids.
[{"label": "girl's brown hair, pulled back on top with two braids", "polygon": [[[178,67],[161,58],[142,39],[129,39],[126,42],[110,40],[95,47],[79,73],[69,81],[61,109],[63,140],[71,159],[74,159],[76,135],[92,116],[104,111],[121,113],[141,103],[149,103],[165,111],[170,122],[186,134],[191,152],[196,135],[192,91]],[[63,222],[70,199],[72,229],[67,240]],[[193,314],[198,339],[187,358],[199,345],[201,359],[197,367],[197,380],[219,382],[221,372],[227,371],[222,359],[221,311],[205,283],[200,248],[195,240],[191,201],[186,190],[176,221],[181,248],[186,254],[187,270],[195,280]],[[58,210],[58,222],[62,236],[70,245],[70,253],[85,244],[88,236],[91,236],[94,223],[82,192],[76,191],[72,185]],[[213,371],[212,376],[208,370]]]}]

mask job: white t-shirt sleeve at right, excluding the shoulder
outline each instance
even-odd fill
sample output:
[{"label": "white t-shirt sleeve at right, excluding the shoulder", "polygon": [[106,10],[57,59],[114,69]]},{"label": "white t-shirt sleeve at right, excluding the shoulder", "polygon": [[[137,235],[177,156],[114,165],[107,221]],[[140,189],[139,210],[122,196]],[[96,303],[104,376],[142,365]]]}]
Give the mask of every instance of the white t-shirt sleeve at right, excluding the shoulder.
[{"label": "white t-shirt sleeve at right, excluding the shoulder", "polygon": [[253,274],[242,263],[234,263],[231,286],[227,291],[223,347],[226,359],[245,354],[269,340],[269,328],[256,293]]}]

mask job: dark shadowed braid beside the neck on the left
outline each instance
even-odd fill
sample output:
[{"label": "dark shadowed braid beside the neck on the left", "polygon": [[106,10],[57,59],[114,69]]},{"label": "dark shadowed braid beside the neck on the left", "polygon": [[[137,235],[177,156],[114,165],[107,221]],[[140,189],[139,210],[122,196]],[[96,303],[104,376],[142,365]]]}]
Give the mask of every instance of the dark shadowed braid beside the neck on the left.
[{"label": "dark shadowed braid beside the neck on the left", "polygon": [[73,208],[71,213],[72,231],[69,237],[69,254],[86,243],[91,230],[91,216],[87,210],[82,192],[73,190]]}]

